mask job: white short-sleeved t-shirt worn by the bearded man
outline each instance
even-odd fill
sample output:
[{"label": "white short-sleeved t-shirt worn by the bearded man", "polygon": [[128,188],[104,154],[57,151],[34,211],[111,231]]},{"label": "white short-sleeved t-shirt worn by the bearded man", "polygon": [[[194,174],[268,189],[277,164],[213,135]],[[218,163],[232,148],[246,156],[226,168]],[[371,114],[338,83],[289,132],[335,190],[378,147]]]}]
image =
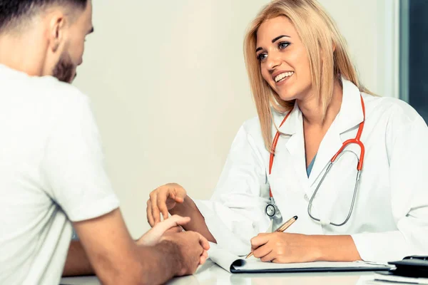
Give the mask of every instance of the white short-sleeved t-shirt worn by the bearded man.
[{"label": "white short-sleeved t-shirt worn by the bearded man", "polygon": [[58,284],[71,221],[118,204],[86,95],[0,65],[0,284]]}]

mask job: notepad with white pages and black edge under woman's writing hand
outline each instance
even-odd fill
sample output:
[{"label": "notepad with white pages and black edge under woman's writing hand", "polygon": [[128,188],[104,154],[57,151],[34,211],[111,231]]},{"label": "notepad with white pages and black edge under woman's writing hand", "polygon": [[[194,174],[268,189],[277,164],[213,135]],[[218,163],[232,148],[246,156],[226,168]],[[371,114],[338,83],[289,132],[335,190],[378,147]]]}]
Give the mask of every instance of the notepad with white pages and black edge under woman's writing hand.
[{"label": "notepad with white pages and black edge under woman's writing hand", "polygon": [[383,271],[391,269],[387,264],[365,261],[336,262],[315,261],[304,263],[276,264],[262,262],[250,257],[240,258],[225,249],[211,247],[208,253],[210,259],[230,273],[275,273],[275,272],[316,272],[316,271]]}]

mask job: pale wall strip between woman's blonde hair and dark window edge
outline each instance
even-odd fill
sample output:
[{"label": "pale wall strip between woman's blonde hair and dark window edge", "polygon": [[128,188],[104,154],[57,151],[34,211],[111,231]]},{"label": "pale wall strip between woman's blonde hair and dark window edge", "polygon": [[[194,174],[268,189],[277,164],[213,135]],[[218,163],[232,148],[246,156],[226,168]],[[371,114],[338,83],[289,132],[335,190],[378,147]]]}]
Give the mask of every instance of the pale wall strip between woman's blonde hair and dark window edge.
[{"label": "pale wall strip between woman's blonde hair and dark window edge", "polygon": [[345,36],[360,78],[398,98],[398,0],[319,0]]}]

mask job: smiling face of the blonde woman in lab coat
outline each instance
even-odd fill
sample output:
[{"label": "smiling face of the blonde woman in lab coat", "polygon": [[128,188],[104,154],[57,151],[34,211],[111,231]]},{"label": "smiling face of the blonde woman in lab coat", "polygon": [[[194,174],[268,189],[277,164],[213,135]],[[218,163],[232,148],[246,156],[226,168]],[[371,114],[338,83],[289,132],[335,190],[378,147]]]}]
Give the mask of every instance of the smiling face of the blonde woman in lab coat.
[{"label": "smiling face of the blonde woman in lab coat", "polygon": [[307,49],[285,16],[265,20],[257,31],[256,56],[263,78],[282,100],[301,100],[312,88]]}]

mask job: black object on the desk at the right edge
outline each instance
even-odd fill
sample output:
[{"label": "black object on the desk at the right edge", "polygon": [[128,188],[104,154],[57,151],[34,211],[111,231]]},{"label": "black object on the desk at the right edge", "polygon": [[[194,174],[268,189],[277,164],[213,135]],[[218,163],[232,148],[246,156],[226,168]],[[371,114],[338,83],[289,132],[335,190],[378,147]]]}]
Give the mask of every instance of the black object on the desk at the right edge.
[{"label": "black object on the desk at the right edge", "polygon": [[391,270],[394,275],[428,278],[428,256],[413,255],[412,257],[404,257],[400,261],[388,262],[388,264],[397,267],[397,269]]}]

